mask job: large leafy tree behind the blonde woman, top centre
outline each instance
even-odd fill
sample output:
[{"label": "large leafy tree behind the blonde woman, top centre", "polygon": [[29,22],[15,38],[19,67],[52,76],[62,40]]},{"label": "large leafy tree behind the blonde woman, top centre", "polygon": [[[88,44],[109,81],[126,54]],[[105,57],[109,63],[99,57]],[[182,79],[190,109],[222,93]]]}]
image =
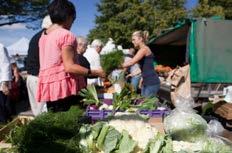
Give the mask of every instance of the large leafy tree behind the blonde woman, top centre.
[{"label": "large leafy tree behind the blonde woman, top centre", "polygon": [[131,34],[147,30],[156,34],[186,16],[184,0],[101,0],[100,15],[88,38],[113,38],[123,47],[131,45]]}]

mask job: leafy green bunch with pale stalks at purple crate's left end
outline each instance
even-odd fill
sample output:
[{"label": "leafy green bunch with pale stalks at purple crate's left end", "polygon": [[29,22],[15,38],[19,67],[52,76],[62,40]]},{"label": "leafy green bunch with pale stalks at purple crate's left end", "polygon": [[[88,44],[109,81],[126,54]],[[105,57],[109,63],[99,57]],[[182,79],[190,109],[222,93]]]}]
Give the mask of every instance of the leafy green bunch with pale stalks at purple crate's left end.
[{"label": "leafy green bunch with pale stalks at purple crate's left end", "polygon": [[94,85],[88,85],[86,89],[82,89],[79,95],[84,99],[82,100],[85,105],[96,105],[99,106],[101,101],[98,99],[97,91]]}]

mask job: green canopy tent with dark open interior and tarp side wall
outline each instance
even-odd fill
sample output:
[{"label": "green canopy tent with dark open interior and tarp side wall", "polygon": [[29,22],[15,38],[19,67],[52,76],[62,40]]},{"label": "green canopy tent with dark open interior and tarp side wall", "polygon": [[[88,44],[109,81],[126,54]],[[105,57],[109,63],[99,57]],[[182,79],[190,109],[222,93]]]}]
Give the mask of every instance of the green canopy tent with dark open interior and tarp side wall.
[{"label": "green canopy tent with dark open interior and tarp side wall", "polygon": [[190,64],[191,82],[232,83],[232,21],[185,20],[152,37],[149,46],[157,63]]}]

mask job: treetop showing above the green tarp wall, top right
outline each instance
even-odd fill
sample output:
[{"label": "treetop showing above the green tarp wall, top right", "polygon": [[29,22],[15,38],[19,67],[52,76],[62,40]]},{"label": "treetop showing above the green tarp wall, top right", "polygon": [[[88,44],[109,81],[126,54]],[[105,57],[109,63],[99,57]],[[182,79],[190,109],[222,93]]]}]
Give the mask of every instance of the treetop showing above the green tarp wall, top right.
[{"label": "treetop showing above the green tarp wall, top right", "polygon": [[221,16],[224,17],[224,9],[219,5],[211,6],[210,1],[200,0],[196,8],[193,9],[194,17],[212,17],[212,16]]}]

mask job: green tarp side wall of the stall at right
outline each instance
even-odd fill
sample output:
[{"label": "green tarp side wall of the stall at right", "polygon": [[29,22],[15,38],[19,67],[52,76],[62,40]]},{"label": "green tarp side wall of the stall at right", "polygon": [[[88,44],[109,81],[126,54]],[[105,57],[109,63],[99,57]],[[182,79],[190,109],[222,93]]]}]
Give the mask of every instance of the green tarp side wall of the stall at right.
[{"label": "green tarp side wall of the stall at right", "polygon": [[232,82],[232,21],[193,21],[189,37],[192,82]]}]

